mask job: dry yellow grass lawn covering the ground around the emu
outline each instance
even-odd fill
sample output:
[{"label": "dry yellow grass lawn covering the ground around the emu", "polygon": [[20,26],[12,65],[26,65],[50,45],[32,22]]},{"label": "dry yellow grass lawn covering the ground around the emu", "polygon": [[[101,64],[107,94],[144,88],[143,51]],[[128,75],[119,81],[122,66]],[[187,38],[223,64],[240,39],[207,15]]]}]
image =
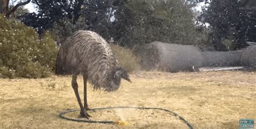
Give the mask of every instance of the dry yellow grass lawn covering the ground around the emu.
[{"label": "dry yellow grass lawn covering the ground around the emu", "polygon": [[[256,119],[256,74],[253,72],[137,72],[132,84],[116,92],[89,88],[91,108],[161,107],[178,113],[194,128],[238,128],[240,118]],[[78,78],[82,95],[82,78]],[[88,124],[58,117],[78,109],[70,77],[0,79],[1,128],[186,128],[171,114],[152,110],[90,112],[92,120],[126,120],[130,126]],[[67,114],[77,118],[78,112]]]}]

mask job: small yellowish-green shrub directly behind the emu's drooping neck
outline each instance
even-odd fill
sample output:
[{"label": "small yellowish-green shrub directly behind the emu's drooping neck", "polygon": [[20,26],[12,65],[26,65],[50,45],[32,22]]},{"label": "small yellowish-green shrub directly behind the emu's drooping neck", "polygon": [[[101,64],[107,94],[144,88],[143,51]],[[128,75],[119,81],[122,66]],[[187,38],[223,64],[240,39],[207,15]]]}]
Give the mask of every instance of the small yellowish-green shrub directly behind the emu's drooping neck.
[{"label": "small yellowish-green shrub directly behind the emu's drooping neck", "polygon": [[134,55],[132,50],[112,43],[110,46],[118,60],[119,65],[124,67],[126,71],[131,72],[140,69],[140,59]]}]

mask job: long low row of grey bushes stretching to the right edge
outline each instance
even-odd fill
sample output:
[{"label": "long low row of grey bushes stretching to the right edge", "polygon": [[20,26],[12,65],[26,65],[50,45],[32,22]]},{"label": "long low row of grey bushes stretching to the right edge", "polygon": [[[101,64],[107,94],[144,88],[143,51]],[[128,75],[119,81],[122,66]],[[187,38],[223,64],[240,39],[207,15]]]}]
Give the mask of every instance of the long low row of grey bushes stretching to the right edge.
[{"label": "long low row of grey bushes stretching to the right edge", "polygon": [[256,66],[256,46],[237,51],[200,51],[196,46],[153,42],[140,46],[145,70],[194,71],[199,67]]}]

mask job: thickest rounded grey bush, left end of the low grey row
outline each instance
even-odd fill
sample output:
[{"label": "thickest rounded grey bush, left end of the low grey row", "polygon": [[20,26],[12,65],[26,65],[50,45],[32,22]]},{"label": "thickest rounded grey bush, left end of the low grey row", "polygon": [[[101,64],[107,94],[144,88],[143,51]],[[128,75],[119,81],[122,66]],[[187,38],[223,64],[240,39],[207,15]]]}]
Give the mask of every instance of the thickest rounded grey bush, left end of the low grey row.
[{"label": "thickest rounded grey bush, left end of the low grey row", "polygon": [[203,65],[203,55],[192,45],[153,42],[145,45],[142,65],[167,72],[193,71]]}]

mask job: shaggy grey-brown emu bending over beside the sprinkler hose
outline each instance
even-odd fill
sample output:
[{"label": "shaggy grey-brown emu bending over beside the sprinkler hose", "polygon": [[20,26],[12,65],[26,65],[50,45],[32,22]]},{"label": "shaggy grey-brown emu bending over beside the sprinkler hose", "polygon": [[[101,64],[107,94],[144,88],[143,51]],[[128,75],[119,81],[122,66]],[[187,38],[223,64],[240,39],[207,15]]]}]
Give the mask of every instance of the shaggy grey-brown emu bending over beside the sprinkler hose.
[{"label": "shaggy grey-brown emu bending over beside the sprinkler hose", "polygon": [[[121,78],[131,82],[127,72],[118,65],[110,45],[96,32],[79,30],[74,32],[60,46],[56,59],[57,75],[72,75],[72,88],[75,91],[80,106],[80,118],[91,117],[86,111],[90,110],[87,104],[87,80],[94,90],[115,91],[120,86]],[[81,102],[77,76],[83,75],[84,106]]]}]

